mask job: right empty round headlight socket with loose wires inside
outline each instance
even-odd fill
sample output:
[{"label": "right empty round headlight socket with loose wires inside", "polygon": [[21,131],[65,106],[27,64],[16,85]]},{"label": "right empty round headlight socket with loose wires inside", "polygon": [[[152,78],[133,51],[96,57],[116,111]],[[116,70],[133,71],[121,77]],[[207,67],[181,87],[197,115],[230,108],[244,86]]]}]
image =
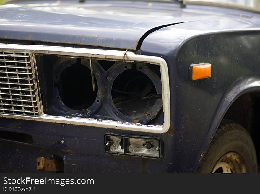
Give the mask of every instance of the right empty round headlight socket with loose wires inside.
[{"label": "right empty round headlight socket with loose wires inside", "polygon": [[[127,74],[128,72],[129,74]],[[141,123],[141,124],[146,124],[150,120],[152,120],[158,112],[162,108],[162,87],[161,87],[161,80],[157,74],[155,74],[150,68],[149,65],[145,63],[120,63],[118,62],[111,68],[110,72],[111,79],[106,79],[105,85],[110,89],[109,92],[107,92],[107,102],[109,105],[111,105],[111,110],[113,116],[116,118],[116,120],[121,120],[121,121],[126,121],[130,123]],[[131,77],[130,80],[126,79],[127,76]],[[113,94],[115,94],[115,89],[118,89],[116,87],[116,82],[122,82],[126,81],[126,84],[122,84],[122,86],[125,87],[129,86],[130,81],[134,78],[143,78],[138,80],[139,82],[136,83],[136,87],[142,86],[144,82],[147,82],[148,80],[150,81],[150,84],[147,84],[144,88],[142,88],[142,91],[139,91],[138,93],[147,96],[149,91],[153,88],[155,90],[156,95],[160,95],[161,97],[158,97],[158,99],[153,99],[153,103],[151,103],[150,108],[144,108],[145,111],[141,111],[142,113],[138,113],[141,110],[141,105],[147,104],[147,102],[142,101],[142,103],[134,103],[132,104],[131,102],[138,102],[137,100],[128,100],[126,101],[124,105],[130,106],[131,108],[129,109],[124,107],[122,110],[122,107],[120,107],[118,104],[122,102],[118,102],[118,104],[115,102],[115,97]],[[120,79],[121,78],[121,79]],[[123,78],[123,79],[122,79]],[[145,85],[145,84],[144,84]],[[131,93],[130,91],[128,91]],[[127,92],[125,92],[127,93]],[[132,107],[139,107],[139,109],[132,111]],[[132,114],[130,114],[132,113]],[[130,114],[130,115],[129,115]]]}]

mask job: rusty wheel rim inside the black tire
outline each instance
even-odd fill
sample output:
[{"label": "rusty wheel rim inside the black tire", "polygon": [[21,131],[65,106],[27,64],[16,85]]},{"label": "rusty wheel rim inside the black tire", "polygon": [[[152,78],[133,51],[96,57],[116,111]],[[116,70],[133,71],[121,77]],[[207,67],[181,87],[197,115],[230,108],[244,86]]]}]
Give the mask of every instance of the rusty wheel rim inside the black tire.
[{"label": "rusty wheel rim inside the black tire", "polygon": [[246,173],[246,165],[242,156],[229,152],[218,160],[211,173]]}]

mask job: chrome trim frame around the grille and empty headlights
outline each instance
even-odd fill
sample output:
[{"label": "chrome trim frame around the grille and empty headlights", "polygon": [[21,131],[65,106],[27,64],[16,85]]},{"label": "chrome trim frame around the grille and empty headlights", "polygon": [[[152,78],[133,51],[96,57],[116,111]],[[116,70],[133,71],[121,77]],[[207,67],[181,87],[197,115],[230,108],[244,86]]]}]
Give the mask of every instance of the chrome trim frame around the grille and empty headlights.
[{"label": "chrome trim frame around the grille and empty headlights", "polygon": [[[114,128],[130,131],[142,131],[150,133],[165,133],[170,127],[170,85],[167,63],[163,58],[137,55],[129,51],[101,50],[87,48],[71,48],[60,46],[38,46],[38,45],[14,45],[0,44],[0,51],[26,52],[35,54],[54,54],[75,57],[90,57],[93,59],[106,59],[129,62],[146,62],[160,66],[163,96],[163,125],[143,125],[139,123],[126,123],[121,121],[97,120],[90,118],[66,118],[52,115],[25,116],[14,114],[1,114],[0,117],[35,120],[51,123],[66,123],[74,125],[85,125],[90,127]],[[35,68],[36,69],[36,68]],[[38,78],[38,76],[36,76]],[[38,79],[37,79],[38,82]]]}]

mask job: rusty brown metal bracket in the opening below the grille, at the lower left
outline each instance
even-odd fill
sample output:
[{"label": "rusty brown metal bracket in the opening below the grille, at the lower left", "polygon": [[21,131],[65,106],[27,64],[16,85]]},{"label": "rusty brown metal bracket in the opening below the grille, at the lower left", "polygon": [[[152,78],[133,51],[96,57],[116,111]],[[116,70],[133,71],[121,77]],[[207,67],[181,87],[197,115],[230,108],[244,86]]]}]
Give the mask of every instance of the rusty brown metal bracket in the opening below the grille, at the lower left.
[{"label": "rusty brown metal bracket in the opening below the grille, at the lower left", "polygon": [[40,157],[36,159],[36,163],[38,171],[63,171],[63,165],[60,159],[45,159],[44,157]]}]

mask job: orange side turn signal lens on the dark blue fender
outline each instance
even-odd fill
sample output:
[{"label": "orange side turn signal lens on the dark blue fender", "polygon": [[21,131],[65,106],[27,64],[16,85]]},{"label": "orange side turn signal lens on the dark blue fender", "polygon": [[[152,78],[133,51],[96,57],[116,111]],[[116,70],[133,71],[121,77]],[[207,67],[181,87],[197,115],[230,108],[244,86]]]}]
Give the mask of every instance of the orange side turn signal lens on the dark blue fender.
[{"label": "orange side turn signal lens on the dark blue fender", "polygon": [[192,80],[203,79],[211,77],[211,64],[201,63],[191,65],[192,67]]}]

